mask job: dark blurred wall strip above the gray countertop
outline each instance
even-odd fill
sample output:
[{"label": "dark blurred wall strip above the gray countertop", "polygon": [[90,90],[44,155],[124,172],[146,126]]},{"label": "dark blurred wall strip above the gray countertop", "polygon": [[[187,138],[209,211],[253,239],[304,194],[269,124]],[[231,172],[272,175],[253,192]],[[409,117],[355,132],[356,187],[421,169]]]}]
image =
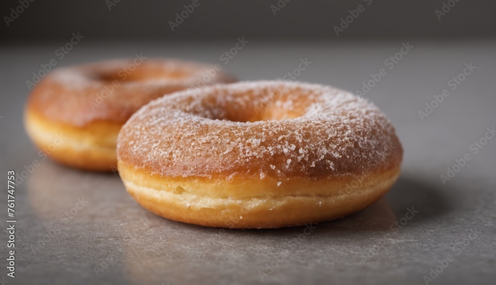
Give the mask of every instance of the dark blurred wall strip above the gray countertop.
[{"label": "dark blurred wall strip above the gray countertop", "polygon": [[[301,42],[496,36],[496,3],[491,0],[198,0],[191,15],[174,31],[169,21],[176,21],[176,13],[181,14],[184,5],[193,1],[28,2],[29,8],[18,19],[8,27],[0,26],[4,44],[63,41],[74,31],[86,35],[87,41],[105,42],[209,42],[240,35],[251,40]],[[333,26],[359,4],[364,11],[336,36]],[[2,16],[9,16],[19,0],[3,0],[0,5]]]}]

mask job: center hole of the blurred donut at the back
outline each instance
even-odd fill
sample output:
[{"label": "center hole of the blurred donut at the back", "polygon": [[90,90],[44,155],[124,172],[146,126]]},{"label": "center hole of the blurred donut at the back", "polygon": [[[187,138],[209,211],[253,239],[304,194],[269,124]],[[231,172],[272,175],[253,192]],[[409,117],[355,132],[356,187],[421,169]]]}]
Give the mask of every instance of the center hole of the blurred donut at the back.
[{"label": "center hole of the blurred donut at the back", "polygon": [[129,65],[119,70],[97,73],[96,80],[113,82],[129,81],[154,81],[163,79],[181,79],[190,76],[190,72],[180,69],[163,69],[158,67],[146,67]]}]

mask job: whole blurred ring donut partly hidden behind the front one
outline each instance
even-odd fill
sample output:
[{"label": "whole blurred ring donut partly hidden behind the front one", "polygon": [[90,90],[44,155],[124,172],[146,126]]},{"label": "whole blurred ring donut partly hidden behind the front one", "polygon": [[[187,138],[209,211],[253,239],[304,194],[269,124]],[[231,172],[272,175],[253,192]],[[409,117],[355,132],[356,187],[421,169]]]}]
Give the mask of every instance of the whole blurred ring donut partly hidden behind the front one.
[{"label": "whole blurred ring donut partly hidden behind the front one", "polygon": [[136,57],[59,68],[33,88],[25,128],[39,149],[62,164],[117,171],[117,135],[141,106],[186,88],[233,81],[213,66],[171,59]]}]

